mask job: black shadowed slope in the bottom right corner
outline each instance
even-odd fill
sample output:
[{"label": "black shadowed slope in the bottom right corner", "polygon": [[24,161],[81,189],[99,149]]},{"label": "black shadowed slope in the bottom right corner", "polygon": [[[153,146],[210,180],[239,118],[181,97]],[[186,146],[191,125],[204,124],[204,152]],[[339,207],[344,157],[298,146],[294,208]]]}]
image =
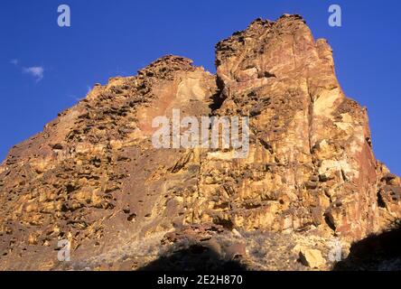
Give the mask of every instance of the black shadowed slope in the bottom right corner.
[{"label": "black shadowed slope in the bottom right corner", "polygon": [[379,235],[369,236],[350,247],[347,259],[334,266],[334,271],[399,271],[401,270],[401,226]]}]

